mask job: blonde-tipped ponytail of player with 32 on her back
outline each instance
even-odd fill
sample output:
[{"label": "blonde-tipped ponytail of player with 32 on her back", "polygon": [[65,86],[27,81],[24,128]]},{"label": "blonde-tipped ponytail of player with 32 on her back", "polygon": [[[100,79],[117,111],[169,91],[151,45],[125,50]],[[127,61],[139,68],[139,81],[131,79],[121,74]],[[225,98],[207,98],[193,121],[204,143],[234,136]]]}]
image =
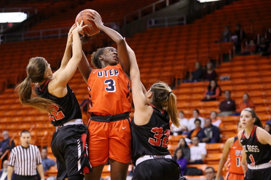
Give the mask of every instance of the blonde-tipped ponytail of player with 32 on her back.
[{"label": "blonde-tipped ponytail of player with 32 on her back", "polygon": [[169,102],[168,106],[166,107],[167,113],[170,116],[170,119],[176,127],[180,126],[180,122],[178,119],[178,110],[176,106],[176,96],[173,93],[169,94]]}]

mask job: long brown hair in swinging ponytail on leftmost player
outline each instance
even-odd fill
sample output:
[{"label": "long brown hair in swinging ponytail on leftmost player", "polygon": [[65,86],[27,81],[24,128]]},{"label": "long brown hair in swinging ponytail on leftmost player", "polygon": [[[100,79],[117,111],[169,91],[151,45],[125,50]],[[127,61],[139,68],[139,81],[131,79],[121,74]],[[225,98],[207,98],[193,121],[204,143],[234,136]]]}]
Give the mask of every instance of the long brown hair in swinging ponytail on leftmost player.
[{"label": "long brown hair in swinging ponytail on leftmost player", "polygon": [[18,84],[15,88],[15,92],[19,95],[19,100],[23,105],[34,107],[42,112],[55,112],[53,105],[55,102],[45,99],[39,96],[33,96],[32,82],[42,82],[44,79],[44,73],[48,66],[46,60],[42,57],[35,57],[29,60],[26,67],[27,77]]}]

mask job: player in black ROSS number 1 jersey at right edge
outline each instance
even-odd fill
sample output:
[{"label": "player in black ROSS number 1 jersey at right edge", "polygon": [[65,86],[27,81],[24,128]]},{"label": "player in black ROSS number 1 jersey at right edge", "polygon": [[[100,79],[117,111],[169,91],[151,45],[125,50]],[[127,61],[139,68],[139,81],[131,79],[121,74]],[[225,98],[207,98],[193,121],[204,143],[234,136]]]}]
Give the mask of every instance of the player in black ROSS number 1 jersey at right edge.
[{"label": "player in black ROSS number 1 jersey at right edge", "polygon": [[241,112],[240,122],[244,128],[238,133],[243,146],[242,166],[244,167],[245,160],[248,164],[245,179],[271,179],[271,135],[261,128],[260,119],[251,108]]}]

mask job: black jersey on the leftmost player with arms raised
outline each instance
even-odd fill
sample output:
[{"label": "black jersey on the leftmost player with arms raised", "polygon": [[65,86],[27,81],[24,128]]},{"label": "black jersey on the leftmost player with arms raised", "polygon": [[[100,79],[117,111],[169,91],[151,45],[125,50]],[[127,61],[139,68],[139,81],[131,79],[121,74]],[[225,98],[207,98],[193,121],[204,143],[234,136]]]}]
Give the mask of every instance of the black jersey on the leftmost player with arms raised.
[{"label": "black jersey on the leftmost player with arms raised", "polygon": [[72,119],[82,119],[82,113],[80,105],[73,93],[73,90],[67,85],[67,94],[58,98],[48,91],[49,80],[46,81],[42,86],[36,86],[36,94],[42,98],[50,99],[58,104],[60,107],[55,106],[57,113],[48,113],[51,119],[51,124],[54,126],[62,125]]}]

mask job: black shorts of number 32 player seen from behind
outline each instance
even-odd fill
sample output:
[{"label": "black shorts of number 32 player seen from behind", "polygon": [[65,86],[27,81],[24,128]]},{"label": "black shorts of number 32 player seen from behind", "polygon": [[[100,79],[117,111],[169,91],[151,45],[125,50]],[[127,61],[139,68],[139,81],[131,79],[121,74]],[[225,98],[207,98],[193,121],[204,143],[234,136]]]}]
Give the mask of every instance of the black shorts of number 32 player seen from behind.
[{"label": "black shorts of number 32 player seen from behind", "polygon": [[178,180],[180,173],[173,159],[149,159],[136,166],[133,180]]}]

